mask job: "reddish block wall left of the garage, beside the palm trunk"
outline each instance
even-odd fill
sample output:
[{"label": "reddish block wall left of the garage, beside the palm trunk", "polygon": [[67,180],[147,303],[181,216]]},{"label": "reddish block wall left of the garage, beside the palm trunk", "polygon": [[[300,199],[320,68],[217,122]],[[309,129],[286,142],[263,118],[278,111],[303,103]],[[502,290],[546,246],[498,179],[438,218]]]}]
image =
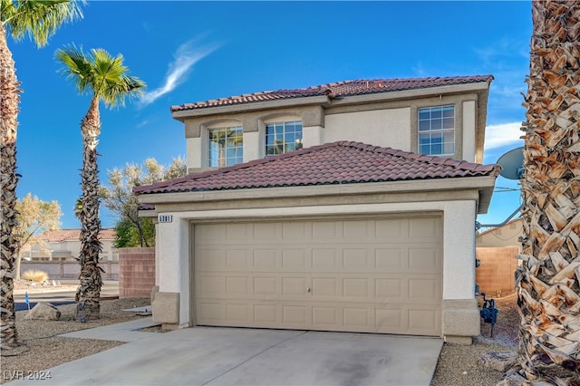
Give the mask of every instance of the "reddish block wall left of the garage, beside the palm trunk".
[{"label": "reddish block wall left of the garage, beside the palm trunk", "polygon": [[119,249],[119,298],[150,297],[155,285],[155,247]]}]

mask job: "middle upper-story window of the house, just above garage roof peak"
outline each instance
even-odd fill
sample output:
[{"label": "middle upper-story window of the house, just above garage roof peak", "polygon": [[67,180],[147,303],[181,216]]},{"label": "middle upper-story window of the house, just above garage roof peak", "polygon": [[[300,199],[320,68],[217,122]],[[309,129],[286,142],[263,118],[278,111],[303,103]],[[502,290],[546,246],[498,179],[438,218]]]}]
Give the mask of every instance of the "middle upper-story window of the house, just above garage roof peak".
[{"label": "middle upper-story window of the house, just above garage roof peak", "polygon": [[302,149],[302,121],[266,123],[266,156]]}]

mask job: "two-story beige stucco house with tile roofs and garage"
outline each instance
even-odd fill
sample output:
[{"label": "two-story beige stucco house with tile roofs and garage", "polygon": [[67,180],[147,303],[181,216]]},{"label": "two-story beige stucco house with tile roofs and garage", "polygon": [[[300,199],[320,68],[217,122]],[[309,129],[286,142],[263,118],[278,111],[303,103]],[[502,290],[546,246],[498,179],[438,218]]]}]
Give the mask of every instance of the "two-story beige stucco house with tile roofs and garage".
[{"label": "two-story beige stucco house with tile roofs and garage", "polygon": [[470,343],[475,220],[499,173],[479,164],[492,79],[172,106],[192,174],[134,190],[158,218],[154,320]]}]

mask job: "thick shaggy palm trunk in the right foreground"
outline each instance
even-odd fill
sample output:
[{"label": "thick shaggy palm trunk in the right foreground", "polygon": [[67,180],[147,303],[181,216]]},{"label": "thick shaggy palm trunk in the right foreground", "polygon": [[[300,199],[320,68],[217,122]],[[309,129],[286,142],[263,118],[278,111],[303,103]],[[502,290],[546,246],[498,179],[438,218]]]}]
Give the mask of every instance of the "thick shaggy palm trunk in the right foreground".
[{"label": "thick shaggy palm trunk in the right foreground", "polygon": [[580,3],[532,3],[517,277],[519,361],[507,384],[580,384]]}]

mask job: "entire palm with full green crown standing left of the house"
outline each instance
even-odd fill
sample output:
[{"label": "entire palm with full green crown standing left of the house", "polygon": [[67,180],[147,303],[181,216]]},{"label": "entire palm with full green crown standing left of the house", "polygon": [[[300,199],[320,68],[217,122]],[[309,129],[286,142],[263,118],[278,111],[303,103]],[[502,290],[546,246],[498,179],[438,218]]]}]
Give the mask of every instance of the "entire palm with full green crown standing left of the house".
[{"label": "entire palm with full green crown standing left of the house", "polygon": [[99,104],[109,108],[123,106],[126,97],[138,96],[145,87],[139,78],[130,76],[123,64],[123,56],[112,57],[105,50],[93,49],[90,54],[82,48],[69,46],[55,53],[63,63],[62,72],[73,80],[80,93],[91,93],[89,110],[81,121],[82,132],[82,200],[77,204],[81,220],[81,251],[79,275],[80,285],[76,293],[76,317],[85,322],[100,317],[101,267],[99,240],[101,220],[99,218],[99,169],[97,165],[97,139],[101,133]]}]

